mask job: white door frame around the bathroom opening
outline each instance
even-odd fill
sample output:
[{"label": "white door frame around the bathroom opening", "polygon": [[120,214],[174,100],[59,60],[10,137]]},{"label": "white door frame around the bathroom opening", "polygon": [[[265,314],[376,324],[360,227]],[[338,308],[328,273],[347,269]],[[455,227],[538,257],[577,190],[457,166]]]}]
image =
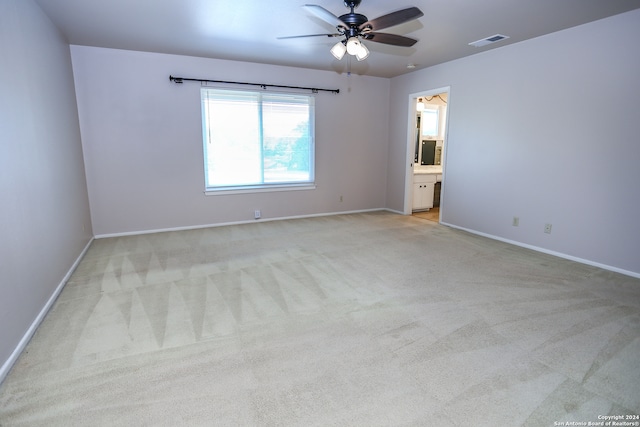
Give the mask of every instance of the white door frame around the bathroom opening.
[{"label": "white door frame around the bathroom opening", "polygon": [[448,132],[449,132],[449,119],[451,117],[450,108],[451,108],[451,86],[440,87],[436,89],[425,89],[419,92],[410,93],[407,99],[407,105],[409,114],[407,114],[407,158],[405,159],[407,165],[405,167],[405,179],[404,179],[404,214],[411,215],[413,212],[413,157],[415,154],[415,124],[416,124],[416,103],[418,98],[426,98],[434,95],[438,95],[441,93],[447,94],[447,115],[445,116],[445,124],[443,130],[443,141],[444,146],[442,147],[442,184],[440,187],[440,217],[438,218],[438,222],[442,220],[442,211],[443,211],[443,199],[445,190],[445,174],[447,171],[446,162],[447,162],[447,146],[448,146]]}]

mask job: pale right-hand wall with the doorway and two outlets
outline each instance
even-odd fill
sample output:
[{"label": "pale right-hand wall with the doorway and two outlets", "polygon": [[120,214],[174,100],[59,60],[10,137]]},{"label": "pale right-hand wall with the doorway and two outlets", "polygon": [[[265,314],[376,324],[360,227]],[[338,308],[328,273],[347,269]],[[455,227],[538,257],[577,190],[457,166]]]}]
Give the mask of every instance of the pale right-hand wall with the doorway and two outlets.
[{"label": "pale right-hand wall with the doorway and two outlets", "polygon": [[640,10],[392,79],[387,206],[409,94],[450,86],[444,223],[640,275],[638,40]]}]

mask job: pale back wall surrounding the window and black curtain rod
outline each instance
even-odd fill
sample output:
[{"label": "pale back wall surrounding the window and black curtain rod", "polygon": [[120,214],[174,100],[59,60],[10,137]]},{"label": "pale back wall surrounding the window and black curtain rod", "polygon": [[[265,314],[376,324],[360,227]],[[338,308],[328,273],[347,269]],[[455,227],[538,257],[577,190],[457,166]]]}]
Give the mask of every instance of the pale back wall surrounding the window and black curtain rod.
[{"label": "pale back wall surrounding the window and black curtain rod", "polygon": [[[388,79],[71,46],[97,236],[385,206]],[[328,59],[327,59],[328,60]],[[199,83],[340,89],[316,96],[310,191],[205,196]],[[340,202],[340,196],[343,202]]]}]

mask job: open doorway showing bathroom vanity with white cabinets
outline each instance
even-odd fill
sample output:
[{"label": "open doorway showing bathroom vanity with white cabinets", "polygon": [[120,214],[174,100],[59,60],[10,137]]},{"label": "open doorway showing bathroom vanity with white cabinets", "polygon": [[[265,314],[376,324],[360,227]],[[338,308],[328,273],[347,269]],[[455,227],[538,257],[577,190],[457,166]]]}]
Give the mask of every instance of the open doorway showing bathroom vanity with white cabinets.
[{"label": "open doorway showing bathroom vanity with white cabinets", "polygon": [[409,95],[405,215],[441,221],[449,99],[449,87]]}]

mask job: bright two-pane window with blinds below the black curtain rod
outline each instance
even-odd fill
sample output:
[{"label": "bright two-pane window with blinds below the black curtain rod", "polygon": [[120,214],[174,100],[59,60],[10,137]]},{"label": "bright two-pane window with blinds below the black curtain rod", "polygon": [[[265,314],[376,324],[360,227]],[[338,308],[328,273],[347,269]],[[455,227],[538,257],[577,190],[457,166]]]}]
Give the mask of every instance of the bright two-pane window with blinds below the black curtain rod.
[{"label": "bright two-pane window with blinds below the black curtain rod", "polygon": [[202,88],[207,191],[309,188],[314,98]]}]

